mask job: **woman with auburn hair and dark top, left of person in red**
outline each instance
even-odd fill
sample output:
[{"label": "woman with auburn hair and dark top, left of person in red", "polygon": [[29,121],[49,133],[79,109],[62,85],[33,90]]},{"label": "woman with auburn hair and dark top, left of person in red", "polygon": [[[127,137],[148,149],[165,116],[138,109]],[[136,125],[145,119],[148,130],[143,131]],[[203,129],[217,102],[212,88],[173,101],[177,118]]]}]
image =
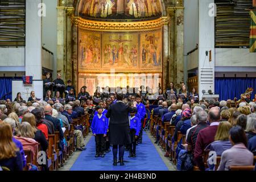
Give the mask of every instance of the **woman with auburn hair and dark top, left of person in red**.
[{"label": "woman with auburn hair and dark top, left of person in red", "polygon": [[[47,142],[46,137],[44,136],[43,132],[36,127],[35,116],[32,113],[27,113],[22,118],[22,123],[23,122],[30,123],[30,125],[32,127],[32,131],[35,135],[35,137],[33,139],[36,140],[36,142],[41,144],[41,148],[39,148],[39,150],[46,151],[48,148],[48,142]],[[47,133],[48,133],[48,131],[47,131]]]}]

